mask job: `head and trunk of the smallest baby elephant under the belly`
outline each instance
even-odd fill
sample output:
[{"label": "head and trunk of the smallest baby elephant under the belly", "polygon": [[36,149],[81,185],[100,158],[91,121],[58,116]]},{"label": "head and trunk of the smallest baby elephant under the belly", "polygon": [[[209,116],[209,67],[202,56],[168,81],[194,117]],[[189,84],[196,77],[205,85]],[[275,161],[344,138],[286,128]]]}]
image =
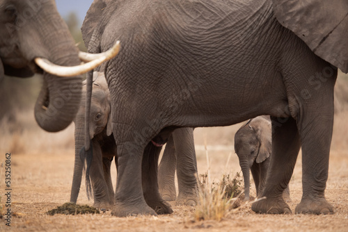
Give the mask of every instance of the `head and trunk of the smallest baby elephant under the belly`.
[{"label": "head and trunk of the smallest baby elephant under the belly", "polygon": [[250,168],[271,156],[271,122],[269,117],[250,119],[235,134],[235,152],[244,176],[245,199],[250,195]]}]

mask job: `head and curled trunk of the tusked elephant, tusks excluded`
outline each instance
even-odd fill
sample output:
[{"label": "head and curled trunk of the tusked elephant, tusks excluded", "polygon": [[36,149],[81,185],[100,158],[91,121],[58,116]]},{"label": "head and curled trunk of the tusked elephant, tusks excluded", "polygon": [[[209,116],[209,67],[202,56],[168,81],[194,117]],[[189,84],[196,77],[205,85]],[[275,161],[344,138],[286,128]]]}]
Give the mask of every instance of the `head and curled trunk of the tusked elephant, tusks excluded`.
[{"label": "head and curled trunk of the tusked elephant, tusks excluded", "polygon": [[4,75],[42,73],[35,119],[46,131],[61,131],[74,119],[81,99],[81,76],[42,72],[34,58],[56,65],[79,65],[78,51],[54,0],[0,0],[0,81]]}]

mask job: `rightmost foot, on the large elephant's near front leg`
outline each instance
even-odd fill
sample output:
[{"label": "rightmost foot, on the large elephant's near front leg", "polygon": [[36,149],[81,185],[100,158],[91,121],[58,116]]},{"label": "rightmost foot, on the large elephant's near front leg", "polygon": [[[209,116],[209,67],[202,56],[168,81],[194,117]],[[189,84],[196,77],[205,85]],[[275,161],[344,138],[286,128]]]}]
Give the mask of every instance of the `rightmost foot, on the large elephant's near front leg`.
[{"label": "rightmost foot, on the large elephant's near front leg", "polygon": [[315,215],[333,214],[335,213],[335,209],[324,197],[317,199],[302,198],[301,202],[295,208],[295,213]]}]

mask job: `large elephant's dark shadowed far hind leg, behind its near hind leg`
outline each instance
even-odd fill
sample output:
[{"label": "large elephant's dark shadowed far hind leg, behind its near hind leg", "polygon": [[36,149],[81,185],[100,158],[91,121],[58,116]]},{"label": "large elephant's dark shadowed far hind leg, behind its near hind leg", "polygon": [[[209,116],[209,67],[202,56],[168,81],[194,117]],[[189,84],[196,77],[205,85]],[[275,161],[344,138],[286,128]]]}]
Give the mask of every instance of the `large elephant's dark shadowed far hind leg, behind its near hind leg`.
[{"label": "large elephant's dark shadowed far hind leg, behind its near hind leg", "polygon": [[158,214],[173,213],[171,206],[161,198],[157,182],[157,164],[161,147],[155,147],[152,142],[145,148],[143,154],[143,194],[146,203]]}]

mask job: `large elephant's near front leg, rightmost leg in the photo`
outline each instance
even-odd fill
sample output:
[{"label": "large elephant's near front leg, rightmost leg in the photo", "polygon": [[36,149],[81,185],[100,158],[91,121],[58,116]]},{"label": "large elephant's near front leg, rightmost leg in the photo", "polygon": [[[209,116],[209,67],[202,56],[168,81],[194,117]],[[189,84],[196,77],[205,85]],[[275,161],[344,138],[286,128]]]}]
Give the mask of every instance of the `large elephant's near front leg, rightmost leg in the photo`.
[{"label": "large elephant's near front leg, rightmost leg in the photo", "polygon": [[320,109],[322,111],[307,122],[308,126],[301,127],[303,195],[295,213],[334,213],[333,206],[326,201],[324,195],[329,175],[333,104],[330,108]]}]

